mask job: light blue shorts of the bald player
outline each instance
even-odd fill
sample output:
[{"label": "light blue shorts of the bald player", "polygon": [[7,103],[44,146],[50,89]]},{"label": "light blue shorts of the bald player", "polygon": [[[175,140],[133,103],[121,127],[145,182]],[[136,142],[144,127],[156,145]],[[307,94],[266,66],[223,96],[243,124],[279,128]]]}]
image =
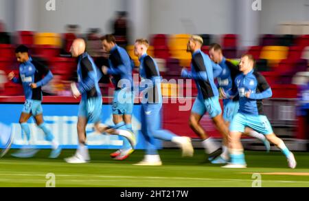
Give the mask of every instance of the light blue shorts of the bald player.
[{"label": "light blue shorts of the bald player", "polygon": [[101,121],[102,97],[81,100],[78,107],[78,116],[86,117],[91,123]]}]

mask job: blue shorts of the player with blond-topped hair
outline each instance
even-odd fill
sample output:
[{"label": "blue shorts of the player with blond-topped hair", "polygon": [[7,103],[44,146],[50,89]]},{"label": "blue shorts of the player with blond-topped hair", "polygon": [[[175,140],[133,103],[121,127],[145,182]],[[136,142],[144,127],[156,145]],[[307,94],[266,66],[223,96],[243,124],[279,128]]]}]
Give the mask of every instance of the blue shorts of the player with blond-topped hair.
[{"label": "blue shorts of the player with blond-topped hair", "polygon": [[222,114],[221,105],[219,103],[219,97],[214,96],[211,98],[208,98],[202,102],[202,100],[196,98],[194,101],[192,110],[192,113],[199,114],[203,116],[206,112],[208,112],[209,116],[211,118],[214,118],[220,114]]}]

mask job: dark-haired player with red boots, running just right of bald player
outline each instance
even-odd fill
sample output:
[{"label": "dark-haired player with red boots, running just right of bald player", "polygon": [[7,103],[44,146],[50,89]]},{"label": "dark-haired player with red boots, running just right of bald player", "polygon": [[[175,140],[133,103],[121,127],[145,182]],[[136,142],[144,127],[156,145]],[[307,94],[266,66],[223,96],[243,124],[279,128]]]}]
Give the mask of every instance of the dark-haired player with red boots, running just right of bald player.
[{"label": "dark-haired player with red boots, running just right of bald player", "polygon": [[[115,85],[112,107],[113,123],[115,124],[113,128],[127,129],[133,133],[131,123],[134,105],[133,64],[126,50],[116,44],[113,35],[107,34],[101,40],[104,52],[111,54],[108,59],[110,67],[103,66],[102,72],[113,76],[113,84]],[[123,138],[123,142],[122,149],[111,154],[111,157],[115,160],[124,160],[134,151],[135,147],[131,146],[127,138]]]}]

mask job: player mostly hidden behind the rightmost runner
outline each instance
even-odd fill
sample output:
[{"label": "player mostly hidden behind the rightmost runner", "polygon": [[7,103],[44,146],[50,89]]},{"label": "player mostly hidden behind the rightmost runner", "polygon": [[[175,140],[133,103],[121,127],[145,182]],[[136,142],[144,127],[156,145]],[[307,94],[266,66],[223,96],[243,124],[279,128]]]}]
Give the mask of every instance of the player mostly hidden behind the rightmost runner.
[{"label": "player mostly hidden behind the rightmost runner", "polygon": [[[218,79],[218,87],[223,89],[225,92],[229,92],[235,89],[236,85],[234,84],[236,76],[238,76],[241,72],[239,71],[239,67],[233,65],[230,61],[225,59],[225,56],[222,54],[222,48],[219,44],[213,43],[209,46],[209,57],[214,63],[218,63],[220,67],[222,67],[222,72],[217,76]],[[216,77],[216,76],[215,76]],[[227,98],[223,99],[223,119],[229,127],[233,116],[235,116],[239,109],[239,96],[236,96],[233,99]],[[265,138],[263,134],[259,134],[257,131],[253,129],[249,129],[246,127],[245,134],[247,136],[251,136],[253,138],[258,138],[261,140],[266,150],[269,151],[271,149],[271,145],[268,140]],[[223,164],[229,161],[229,150],[224,145],[222,146],[222,154],[218,156],[218,158],[211,160],[211,163],[214,164]]]}]

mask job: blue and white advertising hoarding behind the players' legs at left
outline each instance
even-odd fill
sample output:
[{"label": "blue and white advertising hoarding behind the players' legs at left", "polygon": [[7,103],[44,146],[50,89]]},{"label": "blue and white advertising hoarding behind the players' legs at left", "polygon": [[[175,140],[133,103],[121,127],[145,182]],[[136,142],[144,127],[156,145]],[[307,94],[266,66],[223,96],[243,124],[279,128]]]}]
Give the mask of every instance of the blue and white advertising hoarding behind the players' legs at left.
[{"label": "blue and white advertising hoarding behind the players' legs at left", "polygon": [[[12,148],[20,148],[27,145],[27,141],[21,126],[19,116],[23,109],[23,104],[0,104],[0,123],[12,128],[14,140]],[[135,149],[144,149],[146,142],[141,134],[141,105],[134,105],[132,116],[132,127],[137,138]],[[78,121],[78,105],[48,104],[43,105],[43,115],[47,127],[52,130],[55,139],[65,149],[76,149],[78,145],[78,134],[76,124]],[[43,131],[36,126],[33,118],[28,121],[32,145],[38,149],[51,148],[50,142],[44,138]],[[113,125],[113,115],[111,105],[102,105],[102,123]],[[87,145],[89,149],[119,149],[123,141],[119,136],[102,135],[93,131],[93,123],[87,125]],[[1,132],[1,131],[0,131]],[[157,140],[158,149],[161,148],[161,141]]]}]

